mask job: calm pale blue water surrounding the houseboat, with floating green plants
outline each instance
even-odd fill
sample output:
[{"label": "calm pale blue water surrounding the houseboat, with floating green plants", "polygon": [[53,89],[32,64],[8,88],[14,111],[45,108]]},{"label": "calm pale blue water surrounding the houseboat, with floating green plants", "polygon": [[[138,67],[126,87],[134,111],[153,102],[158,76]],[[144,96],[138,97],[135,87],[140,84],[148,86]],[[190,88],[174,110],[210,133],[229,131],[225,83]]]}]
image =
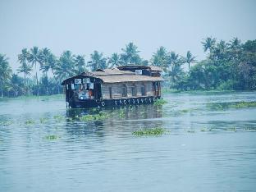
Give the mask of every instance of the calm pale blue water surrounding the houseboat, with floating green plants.
[{"label": "calm pale blue water surrounding the houseboat, with floating green plants", "polygon": [[[256,94],[163,97],[88,122],[64,98],[0,101],[0,191],[256,191],[256,107],[207,107]],[[167,134],[132,135],[156,126]]]}]

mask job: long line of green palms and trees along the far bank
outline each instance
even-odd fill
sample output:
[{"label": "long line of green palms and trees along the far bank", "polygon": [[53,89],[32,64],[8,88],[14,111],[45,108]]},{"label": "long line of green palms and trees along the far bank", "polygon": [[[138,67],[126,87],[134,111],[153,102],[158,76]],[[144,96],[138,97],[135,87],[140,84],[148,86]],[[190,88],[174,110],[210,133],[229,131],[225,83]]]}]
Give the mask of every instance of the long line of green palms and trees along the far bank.
[{"label": "long line of green palms and trees along the far bank", "polygon": [[[201,43],[203,51],[208,53],[202,61],[197,61],[190,51],[181,56],[164,47],[158,48],[150,60],[144,60],[134,43],[126,44],[120,54],[112,53],[111,57],[94,51],[88,62],[85,62],[85,55],[64,51],[57,57],[49,48],[34,46],[23,48],[18,54],[20,66],[16,72],[11,70],[8,58],[0,53],[1,96],[60,94],[61,81],[72,75],[123,65],[162,67],[163,77],[167,80],[165,85],[170,89],[256,89],[256,40],[241,43],[240,39],[234,38],[226,43],[208,37]],[[192,63],[194,65],[190,66]],[[184,70],[184,65],[189,70]],[[33,70],[35,75],[31,76]],[[38,71],[42,73],[40,78]],[[49,71],[53,77],[49,77]]]}]

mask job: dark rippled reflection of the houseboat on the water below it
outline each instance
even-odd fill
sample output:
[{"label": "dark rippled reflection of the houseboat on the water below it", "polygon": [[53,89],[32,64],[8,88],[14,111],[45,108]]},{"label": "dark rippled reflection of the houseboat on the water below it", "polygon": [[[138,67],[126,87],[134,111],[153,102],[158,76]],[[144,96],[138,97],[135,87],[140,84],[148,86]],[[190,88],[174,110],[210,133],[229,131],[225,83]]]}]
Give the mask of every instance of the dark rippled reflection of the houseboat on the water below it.
[{"label": "dark rippled reflection of the houseboat on the water below it", "polygon": [[[99,112],[103,112],[109,117],[100,120],[80,120],[80,117],[97,115]],[[109,134],[127,135],[127,132],[131,133],[141,128],[162,127],[163,121],[160,120],[162,113],[162,106],[154,106],[153,104],[97,109],[67,109],[66,117],[71,121],[66,121],[66,130],[71,135],[96,135],[98,137]]]}]

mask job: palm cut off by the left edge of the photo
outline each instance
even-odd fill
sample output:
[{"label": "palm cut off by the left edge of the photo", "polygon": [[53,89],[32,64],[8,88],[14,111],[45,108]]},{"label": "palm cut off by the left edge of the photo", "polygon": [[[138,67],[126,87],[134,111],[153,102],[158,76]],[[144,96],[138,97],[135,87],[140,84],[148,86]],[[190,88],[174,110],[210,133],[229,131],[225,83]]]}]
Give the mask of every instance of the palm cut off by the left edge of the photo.
[{"label": "palm cut off by the left edge of the photo", "polygon": [[11,79],[11,66],[9,66],[8,58],[0,53],[0,87],[3,98],[3,86]]}]

